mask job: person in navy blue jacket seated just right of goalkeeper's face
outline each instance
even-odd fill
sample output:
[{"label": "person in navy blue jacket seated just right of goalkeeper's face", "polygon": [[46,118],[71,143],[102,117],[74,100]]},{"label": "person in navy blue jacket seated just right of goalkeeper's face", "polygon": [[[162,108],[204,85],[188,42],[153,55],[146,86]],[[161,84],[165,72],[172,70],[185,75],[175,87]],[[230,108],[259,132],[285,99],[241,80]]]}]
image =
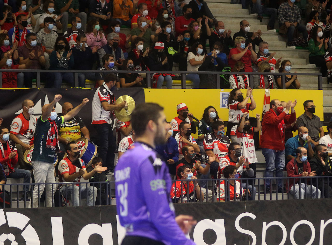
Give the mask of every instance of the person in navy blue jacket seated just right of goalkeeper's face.
[{"label": "person in navy blue jacket seated just right of goalkeeper's face", "polygon": [[156,151],[166,162],[169,173],[172,179],[174,179],[176,175],[176,164],[179,161],[179,149],[176,139],[172,137],[173,129],[170,123],[167,123],[166,131],[166,144],[157,145]]}]

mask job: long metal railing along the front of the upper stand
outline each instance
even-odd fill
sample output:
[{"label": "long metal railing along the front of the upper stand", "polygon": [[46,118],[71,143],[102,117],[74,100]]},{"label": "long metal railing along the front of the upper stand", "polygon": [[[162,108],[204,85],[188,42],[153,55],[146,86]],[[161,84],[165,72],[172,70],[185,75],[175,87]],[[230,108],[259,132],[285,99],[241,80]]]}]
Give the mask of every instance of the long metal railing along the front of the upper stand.
[{"label": "long metal railing along the front of the upper stand", "polygon": [[[2,88],[2,72],[13,72],[12,69],[1,69],[0,71],[0,88]],[[129,71],[114,71],[114,70],[16,70],[15,72],[36,72],[36,86],[38,88],[41,87],[41,72],[43,73],[74,73],[74,86],[78,87],[78,73],[129,73]],[[296,76],[317,76],[318,77],[318,89],[323,89],[323,81],[322,81],[322,74],[321,73],[279,73],[279,72],[218,72],[218,71],[130,71],[130,73],[146,73],[146,74],[153,74],[153,73],[170,73],[170,74],[181,74],[182,81],[181,81],[181,88],[186,88],[186,74],[226,74],[227,76],[234,75],[234,74],[245,74],[249,75],[249,86],[252,88],[254,85],[253,75],[281,75],[282,76],[282,89],[286,89],[286,75],[295,75]],[[146,86],[148,88],[151,87],[151,76],[146,76]],[[220,76],[216,76],[216,89],[220,89]]]}]

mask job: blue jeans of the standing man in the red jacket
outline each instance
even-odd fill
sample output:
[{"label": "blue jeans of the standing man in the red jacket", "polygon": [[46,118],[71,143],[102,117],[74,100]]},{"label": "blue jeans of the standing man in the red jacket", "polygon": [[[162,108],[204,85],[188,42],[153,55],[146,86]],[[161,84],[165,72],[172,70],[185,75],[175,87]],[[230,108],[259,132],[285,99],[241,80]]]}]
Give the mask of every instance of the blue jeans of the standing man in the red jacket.
[{"label": "blue jeans of the standing man in the red jacket", "polygon": [[[262,148],[262,153],[265,157],[266,169],[265,178],[272,178],[274,172],[276,172],[276,177],[284,177],[285,168],[285,150],[277,151],[268,148]],[[276,169],[276,171],[274,170]],[[270,180],[265,180],[265,186],[270,187]],[[278,188],[282,188],[281,179],[278,179]]]}]

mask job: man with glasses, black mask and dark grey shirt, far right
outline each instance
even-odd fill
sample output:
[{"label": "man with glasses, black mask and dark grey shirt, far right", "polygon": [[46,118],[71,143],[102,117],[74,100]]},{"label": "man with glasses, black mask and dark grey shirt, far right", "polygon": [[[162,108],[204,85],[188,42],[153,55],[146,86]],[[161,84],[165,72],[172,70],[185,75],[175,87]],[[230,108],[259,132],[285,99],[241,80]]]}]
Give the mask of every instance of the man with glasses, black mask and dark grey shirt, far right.
[{"label": "man with glasses, black mask and dark grey shirt, far right", "polygon": [[309,130],[309,136],[313,141],[319,143],[319,139],[324,136],[323,123],[315,114],[315,105],[312,100],[306,100],[303,103],[304,113],[296,120],[296,126],[306,127]]}]

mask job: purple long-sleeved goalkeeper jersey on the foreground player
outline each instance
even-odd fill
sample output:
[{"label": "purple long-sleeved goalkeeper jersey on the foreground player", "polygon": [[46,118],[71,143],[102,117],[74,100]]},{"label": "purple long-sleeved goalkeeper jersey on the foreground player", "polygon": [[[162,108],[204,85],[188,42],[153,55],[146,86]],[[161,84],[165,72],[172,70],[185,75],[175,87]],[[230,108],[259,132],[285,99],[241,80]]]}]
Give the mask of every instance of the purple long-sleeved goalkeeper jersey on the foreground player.
[{"label": "purple long-sleeved goalkeeper jersey on the foreground player", "polygon": [[151,146],[135,142],[115,168],[115,195],[120,223],[128,236],[165,244],[194,245],[175,222],[168,167]]}]

